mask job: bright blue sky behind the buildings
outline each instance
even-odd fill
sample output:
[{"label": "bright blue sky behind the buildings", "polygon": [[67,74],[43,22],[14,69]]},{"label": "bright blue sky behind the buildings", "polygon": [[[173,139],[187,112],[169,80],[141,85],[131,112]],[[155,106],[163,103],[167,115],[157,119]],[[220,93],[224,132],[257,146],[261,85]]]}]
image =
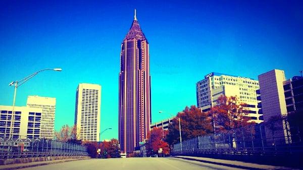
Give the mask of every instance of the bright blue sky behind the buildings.
[{"label": "bright blue sky behind the buildings", "polygon": [[258,79],[272,69],[286,78],[303,70],[301,1],[0,1],[0,105],[8,84],[44,68],[20,86],[57,98],[55,128],[74,123],[79,83],[102,85],[102,139],[118,137],[121,42],[134,9],[150,46],[153,122],[196,104],[195,83],[210,72]]}]

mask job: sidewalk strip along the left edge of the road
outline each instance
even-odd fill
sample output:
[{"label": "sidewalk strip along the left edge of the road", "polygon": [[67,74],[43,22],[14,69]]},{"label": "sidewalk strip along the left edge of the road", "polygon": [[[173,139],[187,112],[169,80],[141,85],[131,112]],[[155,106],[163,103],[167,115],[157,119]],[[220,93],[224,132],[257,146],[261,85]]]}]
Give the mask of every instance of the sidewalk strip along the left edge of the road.
[{"label": "sidewalk strip along the left edge of the road", "polygon": [[0,170],[20,169],[26,167],[53,164],[53,163],[69,162],[74,160],[83,160],[83,159],[61,159],[61,160],[47,160],[47,161],[37,161],[37,162],[29,162],[29,163],[6,164],[6,165],[0,165]]}]

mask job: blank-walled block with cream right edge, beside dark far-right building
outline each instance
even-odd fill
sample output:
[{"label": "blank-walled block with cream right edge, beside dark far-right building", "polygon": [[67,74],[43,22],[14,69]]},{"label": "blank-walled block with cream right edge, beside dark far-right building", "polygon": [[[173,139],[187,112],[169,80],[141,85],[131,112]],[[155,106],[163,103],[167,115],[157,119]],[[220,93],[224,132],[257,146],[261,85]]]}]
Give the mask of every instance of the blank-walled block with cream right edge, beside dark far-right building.
[{"label": "blank-walled block with cream right edge, beside dark far-right building", "polygon": [[268,145],[290,143],[289,138],[278,138],[273,141],[273,136],[290,136],[286,131],[287,123],[284,120],[271,121],[273,117],[287,116],[286,102],[284,96],[283,82],[285,81],[284,71],[272,70],[258,76],[260,83],[260,94],[264,122],[271,122],[275,126],[275,131],[265,128]]}]

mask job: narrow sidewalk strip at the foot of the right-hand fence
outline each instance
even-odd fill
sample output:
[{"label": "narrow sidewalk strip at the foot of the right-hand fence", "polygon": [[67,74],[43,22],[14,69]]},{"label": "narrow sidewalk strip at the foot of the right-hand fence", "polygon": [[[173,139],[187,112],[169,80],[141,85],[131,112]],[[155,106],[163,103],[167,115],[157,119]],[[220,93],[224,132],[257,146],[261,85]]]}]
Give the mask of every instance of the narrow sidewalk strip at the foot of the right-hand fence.
[{"label": "narrow sidewalk strip at the foot of the right-hand fence", "polygon": [[257,164],[257,163],[247,163],[236,160],[224,160],[224,159],[214,159],[214,158],[206,158],[206,157],[194,157],[194,156],[174,156],[176,158],[182,158],[187,160],[195,160],[200,162],[218,164],[223,166],[230,166],[236,168],[244,168],[244,169],[293,169],[291,167],[284,166],[273,166],[273,165],[265,165],[265,164]]}]

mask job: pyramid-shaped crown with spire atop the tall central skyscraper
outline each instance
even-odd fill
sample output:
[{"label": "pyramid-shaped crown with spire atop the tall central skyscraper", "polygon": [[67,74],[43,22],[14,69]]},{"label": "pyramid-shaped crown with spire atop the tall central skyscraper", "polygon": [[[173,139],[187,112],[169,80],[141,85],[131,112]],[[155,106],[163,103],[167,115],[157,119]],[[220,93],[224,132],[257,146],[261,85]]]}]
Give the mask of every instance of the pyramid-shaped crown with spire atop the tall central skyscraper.
[{"label": "pyramid-shaped crown with spire atop the tall central skyscraper", "polygon": [[136,9],[135,9],[135,14],[134,14],[134,21],[131,24],[131,27],[128,31],[128,33],[126,34],[124,39],[139,39],[139,40],[146,40],[144,33],[142,32],[139,22],[137,20],[137,16],[136,16]]}]

